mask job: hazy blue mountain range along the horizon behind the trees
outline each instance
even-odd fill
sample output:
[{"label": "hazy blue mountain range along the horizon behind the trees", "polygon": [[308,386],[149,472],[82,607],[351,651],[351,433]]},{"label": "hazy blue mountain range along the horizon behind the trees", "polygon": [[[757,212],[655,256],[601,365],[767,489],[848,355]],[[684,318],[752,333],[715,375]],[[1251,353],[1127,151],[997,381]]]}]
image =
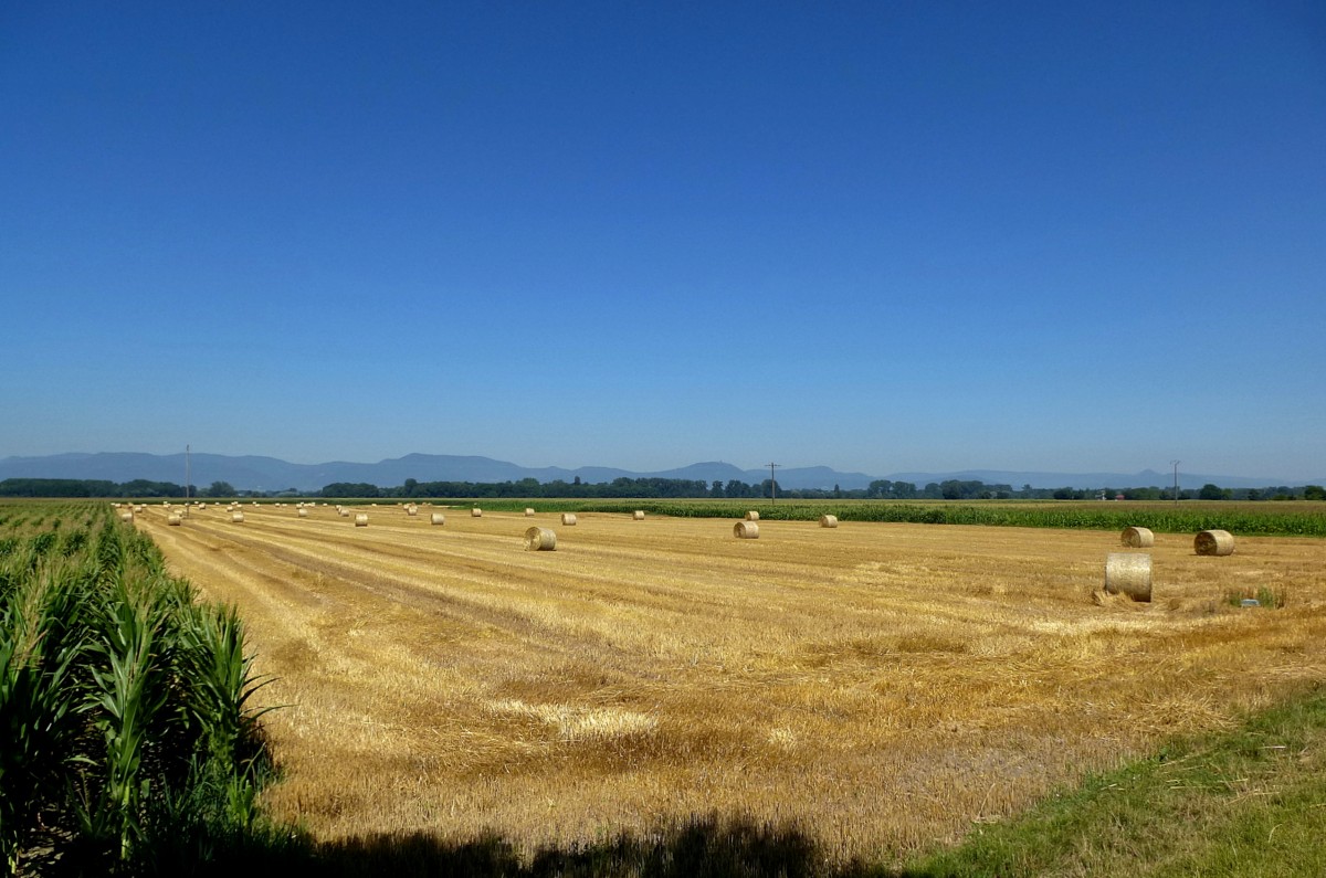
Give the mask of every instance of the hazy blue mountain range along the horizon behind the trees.
[{"label": "hazy blue mountain range along the horizon behind the trees", "polygon": [[[741,470],[731,463],[692,463],[679,470],[660,472],[631,472],[611,467],[521,467],[492,458],[411,454],[404,458],[379,460],[378,463],[288,463],[276,458],[228,456],[195,454],[190,460],[190,480],[202,488],[213,481],[228,481],[240,491],[284,491],[294,488],[301,493],[321,491],[335,481],[367,483],[382,488],[403,484],[406,479],[416,481],[581,481],[599,483],[613,479],[703,479],[704,481],[731,481],[739,479],[758,484],[769,477],[765,470]],[[101,454],[61,454],[42,458],[0,459],[0,479],[103,479],[109,481],[150,481],[184,483],[184,455],[151,455],[134,452]],[[863,472],[839,472],[829,467],[786,467],[778,470],[778,485],[788,489],[827,488],[834,485],[843,491],[866,488],[876,479],[890,481],[911,481],[923,487],[931,481],[984,481],[985,484],[1008,484],[1014,489],[1029,484],[1033,488],[1147,488],[1174,484],[1168,472],[1143,470],[1135,473],[1119,472],[1006,472],[1000,470],[964,470],[961,472],[895,472],[892,475],[870,476]],[[1266,488],[1280,484],[1298,487],[1302,484],[1326,484],[1326,477],[1305,481],[1277,483],[1268,479],[1248,479],[1244,476],[1213,476],[1179,472],[1180,488],[1200,488],[1204,484],[1217,484],[1221,488]]]}]

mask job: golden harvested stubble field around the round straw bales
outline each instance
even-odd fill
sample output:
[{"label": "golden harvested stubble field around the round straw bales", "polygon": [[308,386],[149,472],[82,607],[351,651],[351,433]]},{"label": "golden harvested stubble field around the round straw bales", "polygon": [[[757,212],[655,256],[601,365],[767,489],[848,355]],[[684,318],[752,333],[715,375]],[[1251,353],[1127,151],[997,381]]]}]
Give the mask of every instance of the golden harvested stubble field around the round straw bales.
[{"label": "golden harvested stubble field around the round straw bales", "polygon": [[[1134,605],[1099,594],[1118,533],[243,511],[138,527],[240,606],[289,706],[268,801],[325,840],[532,850],[719,813],[890,858],[1326,675],[1321,540],[1158,534]],[[1227,599],[1262,586],[1288,606]]]}]

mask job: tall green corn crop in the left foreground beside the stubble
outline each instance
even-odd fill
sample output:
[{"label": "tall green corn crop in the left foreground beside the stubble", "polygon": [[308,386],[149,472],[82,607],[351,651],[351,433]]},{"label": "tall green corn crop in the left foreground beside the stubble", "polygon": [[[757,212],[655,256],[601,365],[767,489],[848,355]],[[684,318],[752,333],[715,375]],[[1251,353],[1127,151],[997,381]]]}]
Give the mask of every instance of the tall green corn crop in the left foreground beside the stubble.
[{"label": "tall green corn crop in the left foreground beside the stubble", "polygon": [[0,507],[4,874],[170,874],[261,830],[251,662],[109,505]]}]

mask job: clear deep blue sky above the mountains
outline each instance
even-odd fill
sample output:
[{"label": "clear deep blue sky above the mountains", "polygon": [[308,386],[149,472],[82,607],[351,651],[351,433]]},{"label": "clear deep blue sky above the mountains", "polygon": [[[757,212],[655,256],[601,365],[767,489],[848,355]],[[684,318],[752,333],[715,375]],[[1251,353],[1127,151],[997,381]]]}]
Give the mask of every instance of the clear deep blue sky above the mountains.
[{"label": "clear deep blue sky above the mountains", "polygon": [[0,456],[1326,473],[1326,5],[7,3]]}]

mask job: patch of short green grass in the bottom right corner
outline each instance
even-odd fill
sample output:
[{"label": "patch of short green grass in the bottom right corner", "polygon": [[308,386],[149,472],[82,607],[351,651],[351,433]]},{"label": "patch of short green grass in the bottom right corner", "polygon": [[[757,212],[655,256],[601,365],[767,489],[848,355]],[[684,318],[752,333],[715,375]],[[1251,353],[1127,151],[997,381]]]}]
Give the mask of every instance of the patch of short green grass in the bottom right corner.
[{"label": "patch of short green grass in the bottom right corner", "polygon": [[880,875],[1326,875],[1326,687]]}]

